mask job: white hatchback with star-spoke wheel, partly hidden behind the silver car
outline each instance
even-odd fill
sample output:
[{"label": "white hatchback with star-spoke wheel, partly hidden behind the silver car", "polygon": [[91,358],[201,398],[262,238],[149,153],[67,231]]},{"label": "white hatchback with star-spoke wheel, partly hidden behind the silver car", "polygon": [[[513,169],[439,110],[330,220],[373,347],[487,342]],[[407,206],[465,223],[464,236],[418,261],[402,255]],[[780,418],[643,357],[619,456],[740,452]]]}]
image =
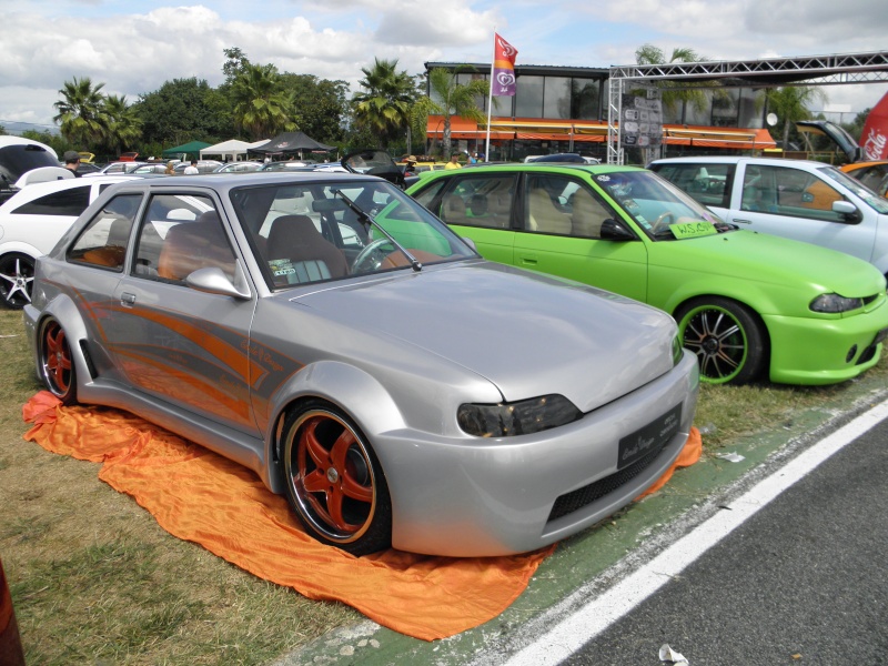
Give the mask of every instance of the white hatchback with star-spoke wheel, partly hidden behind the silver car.
[{"label": "white hatchback with star-spoke wheel, partly hidden behind the silver car", "polygon": [[132,178],[97,175],[34,183],[0,205],[0,302],[12,309],[30,303],[37,258],[56,246],[101,192]]}]

